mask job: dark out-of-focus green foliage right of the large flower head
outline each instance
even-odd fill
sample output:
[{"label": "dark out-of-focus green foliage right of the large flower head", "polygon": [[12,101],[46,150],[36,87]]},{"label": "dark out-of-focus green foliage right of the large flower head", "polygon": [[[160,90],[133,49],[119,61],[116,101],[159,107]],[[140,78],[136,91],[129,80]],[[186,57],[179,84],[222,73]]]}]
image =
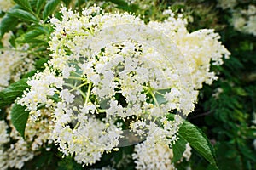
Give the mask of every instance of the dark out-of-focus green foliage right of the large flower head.
[{"label": "dark out-of-focus green foliage right of the large flower head", "polygon": [[216,29],[231,56],[223,66],[212,67],[212,71],[219,72],[220,78],[211,87],[205,85],[201,90],[195,115],[189,120],[211,139],[220,169],[254,169],[255,37],[227,26],[231,20],[230,11],[214,8],[214,13],[219,19]]}]

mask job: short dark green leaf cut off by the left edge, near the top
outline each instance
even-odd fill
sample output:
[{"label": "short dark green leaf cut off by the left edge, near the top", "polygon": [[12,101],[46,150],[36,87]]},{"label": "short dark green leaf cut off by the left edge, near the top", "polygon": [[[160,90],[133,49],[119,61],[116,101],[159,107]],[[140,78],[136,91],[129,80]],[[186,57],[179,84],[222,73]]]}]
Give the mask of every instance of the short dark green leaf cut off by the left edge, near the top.
[{"label": "short dark green leaf cut off by the left edge, near the top", "polygon": [[14,29],[15,26],[17,25],[18,25],[18,20],[15,17],[9,14],[5,14],[0,23],[0,37],[3,37],[5,32],[8,32]]}]

